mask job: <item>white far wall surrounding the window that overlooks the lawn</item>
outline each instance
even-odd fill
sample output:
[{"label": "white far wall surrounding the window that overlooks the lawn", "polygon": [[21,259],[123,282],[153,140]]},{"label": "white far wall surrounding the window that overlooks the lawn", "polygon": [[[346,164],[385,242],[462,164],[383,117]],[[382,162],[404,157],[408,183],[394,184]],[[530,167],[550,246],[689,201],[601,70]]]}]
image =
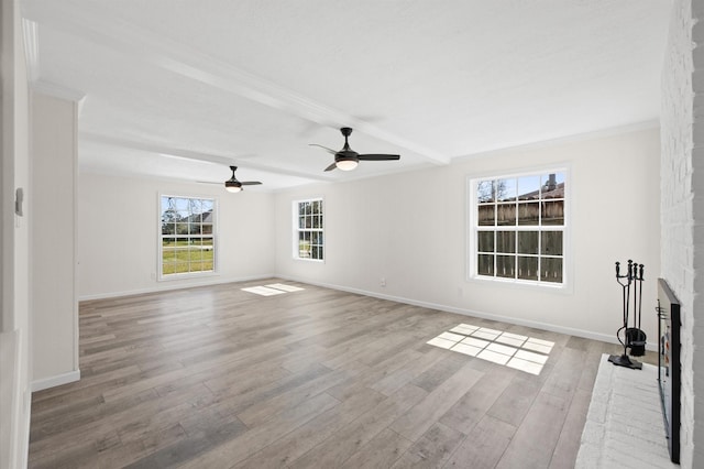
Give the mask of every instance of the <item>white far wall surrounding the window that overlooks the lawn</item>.
[{"label": "white far wall surrounding the window that overlooks the lawn", "polygon": [[[218,200],[218,274],[157,281],[158,194]],[[120,296],[274,274],[273,195],[230,194],[208,184],[182,184],[80,173],[78,292],[80,299]]]}]

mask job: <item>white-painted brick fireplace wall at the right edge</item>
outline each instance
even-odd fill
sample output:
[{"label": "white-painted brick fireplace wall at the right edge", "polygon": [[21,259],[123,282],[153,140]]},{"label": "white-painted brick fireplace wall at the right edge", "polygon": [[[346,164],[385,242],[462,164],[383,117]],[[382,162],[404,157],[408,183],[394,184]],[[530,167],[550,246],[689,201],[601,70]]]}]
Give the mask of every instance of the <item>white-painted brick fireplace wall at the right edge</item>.
[{"label": "white-painted brick fireplace wall at the right edge", "polygon": [[704,292],[704,21],[697,19],[704,20],[704,1],[673,1],[660,118],[661,275],[683,313],[682,467],[704,460],[704,297],[695,293]]}]

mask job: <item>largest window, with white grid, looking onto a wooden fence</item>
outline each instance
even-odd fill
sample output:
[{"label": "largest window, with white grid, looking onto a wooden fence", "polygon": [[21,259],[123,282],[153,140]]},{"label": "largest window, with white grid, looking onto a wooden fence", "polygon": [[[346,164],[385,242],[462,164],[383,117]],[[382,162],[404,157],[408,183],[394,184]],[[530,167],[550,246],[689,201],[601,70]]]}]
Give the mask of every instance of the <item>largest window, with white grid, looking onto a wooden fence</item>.
[{"label": "largest window, with white grid, looking onto a wooden fence", "polygon": [[565,174],[470,181],[470,276],[564,285]]}]

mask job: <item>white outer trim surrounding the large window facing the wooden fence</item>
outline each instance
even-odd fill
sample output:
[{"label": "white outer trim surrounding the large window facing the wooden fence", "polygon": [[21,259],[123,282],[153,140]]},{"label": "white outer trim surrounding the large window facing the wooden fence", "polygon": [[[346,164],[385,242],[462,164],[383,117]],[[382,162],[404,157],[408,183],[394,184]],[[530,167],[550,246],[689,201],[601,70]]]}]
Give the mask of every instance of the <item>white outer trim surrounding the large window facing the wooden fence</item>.
[{"label": "white outer trim surrounding the large window facing the wooden fence", "polygon": [[[515,286],[526,288],[544,288],[546,291],[554,291],[560,293],[573,292],[573,254],[571,242],[571,219],[572,219],[572,197],[573,197],[573,183],[572,183],[572,165],[571,164],[554,164],[535,166],[525,170],[516,170],[512,172],[491,172],[491,173],[477,173],[466,176],[466,281],[470,283],[482,283],[484,285],[492,286]],[[485,179],[502,179],[502,178],[516,178],[522,176],[544,175],[549,173],[564,173],[565,193],[564,193],[564,226],[551,227],[552,231],[562,231],[562,283],[552,283],[544,281],[532,281],[521,279],[505,279],[498,276],[479,275],[477,260],[476,260],[476,232],[480,231],[476,226],[476,184],[479,181]],[[535,227],[530,226],[516,226],[512,227],[512,230],[516,231],[535,231]]]}]

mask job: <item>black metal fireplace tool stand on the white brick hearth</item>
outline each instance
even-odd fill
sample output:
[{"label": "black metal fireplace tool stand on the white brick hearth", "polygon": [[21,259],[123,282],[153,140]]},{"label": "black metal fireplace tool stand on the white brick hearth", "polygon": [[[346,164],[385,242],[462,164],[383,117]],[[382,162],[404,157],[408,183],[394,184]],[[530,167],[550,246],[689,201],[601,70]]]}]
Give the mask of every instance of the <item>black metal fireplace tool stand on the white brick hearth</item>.
[{"label": "black metal fireplace tool stand on the white brick hearth", "polygon": [[[646,332],[640,329],[640,312],[642,307],[642,281],[644,265],[638,264],[630,259],[626,268],[626,274],[620,274],[620,262],[616,262],[616,281],[623,290],[624,317],[623,326],[616,331],[616,338],[624,346],[624,353],[612,355],[608,361],[618,366],[634,370],[642,369],[642,363],[628,357],[628,349],[632,357],[642,357],[646,355]],[[632,286],[632,288],[631,288]],[[630,291],[632,290],[632,303],[630,301]],[[632,309],[632,327],[628,326]],[[623,340],[622,340],[623,331]]]}]

